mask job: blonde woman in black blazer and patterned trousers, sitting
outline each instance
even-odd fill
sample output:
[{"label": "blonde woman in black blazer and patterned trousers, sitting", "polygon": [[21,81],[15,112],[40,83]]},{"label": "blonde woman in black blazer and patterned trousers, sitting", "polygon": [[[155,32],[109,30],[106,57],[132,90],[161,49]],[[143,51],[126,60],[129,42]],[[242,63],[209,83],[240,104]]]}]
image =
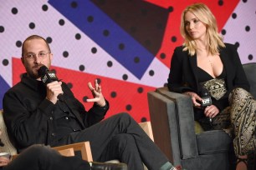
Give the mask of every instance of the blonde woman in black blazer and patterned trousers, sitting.
[{"label": "blonde woman in black blazer and patterned trousers, sitting", "polygon": [[[256,143],[256,104],[237,48],[223,42],[215,17],[202,3],[183,11],[180,31],[184,43],[174,50],[168,88],[192,97],[195,119],[204,130],[223,129],[232,135],[237,169],[247,169]],[[211,96],[210,106],[202,107],[202,92]]]}]

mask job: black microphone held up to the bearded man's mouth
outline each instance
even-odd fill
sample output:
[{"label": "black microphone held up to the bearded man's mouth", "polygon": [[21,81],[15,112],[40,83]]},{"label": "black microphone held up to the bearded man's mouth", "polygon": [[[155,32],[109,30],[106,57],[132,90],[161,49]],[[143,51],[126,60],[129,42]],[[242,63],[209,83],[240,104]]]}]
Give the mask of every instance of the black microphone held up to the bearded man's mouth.
[{"label": "black microphone held up to the bearded man's mouth", "polygon": [[[38,76],[41,77],[42,82],[44,82],[44,85],[50,83],[50,82],[54,82],[54,81],[59,81],[58,77],[56,76],[55,72],[53,71],[49,71],[48,67],[46,66],[41,66],[38,69]],[[64,101],[64,98],[62,96],[62,94],[58,95],[58,99],[60,101]]]}]

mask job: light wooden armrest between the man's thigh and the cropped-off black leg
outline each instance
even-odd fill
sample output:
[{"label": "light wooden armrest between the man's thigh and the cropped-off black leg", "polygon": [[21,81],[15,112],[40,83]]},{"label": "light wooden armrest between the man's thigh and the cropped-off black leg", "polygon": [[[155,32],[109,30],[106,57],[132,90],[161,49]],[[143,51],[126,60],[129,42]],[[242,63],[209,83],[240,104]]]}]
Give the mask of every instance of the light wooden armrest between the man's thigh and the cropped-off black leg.
[{"label": "light wooden armrest between the man's thigh and the cropped-off black leg", "polygon": [[64,150],[69,148],[73,148],[74,152],[80,151],[82,155],[82,159],[84,159],[85,161],[88,161],[88,162],[93,161],[91,150],[90,150],[90,142],[73,143],[69,145],[54,147],[53,149],[59,151],[59,150]]}]

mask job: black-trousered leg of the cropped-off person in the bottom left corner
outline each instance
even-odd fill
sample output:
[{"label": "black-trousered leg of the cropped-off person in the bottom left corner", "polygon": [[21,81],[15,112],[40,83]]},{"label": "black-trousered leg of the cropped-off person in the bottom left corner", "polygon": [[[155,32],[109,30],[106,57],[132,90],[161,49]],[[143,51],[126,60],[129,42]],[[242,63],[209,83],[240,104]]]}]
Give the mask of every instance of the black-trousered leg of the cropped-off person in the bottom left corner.
[{"label": "black-trousered leg of the cropped-off person in the bottom left corner", "polygon": [[[1,168],[0,168],[1,169]],[[90,164],[78,157],[61,156],[54,149],[33,145],[15,158],[3,170],[90,170]]]}]

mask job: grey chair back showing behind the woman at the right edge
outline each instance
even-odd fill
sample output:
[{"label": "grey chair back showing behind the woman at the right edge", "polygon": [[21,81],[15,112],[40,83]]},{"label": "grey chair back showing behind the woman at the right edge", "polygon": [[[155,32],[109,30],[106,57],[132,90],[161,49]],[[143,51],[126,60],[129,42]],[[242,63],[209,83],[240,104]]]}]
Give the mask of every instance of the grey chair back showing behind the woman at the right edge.
[{"label": "grey chair back showing behind the woman at the right edge", "polygon": [[243,70],[250,84],[250,93],[256,98],[256,62],[243,64]]}]

